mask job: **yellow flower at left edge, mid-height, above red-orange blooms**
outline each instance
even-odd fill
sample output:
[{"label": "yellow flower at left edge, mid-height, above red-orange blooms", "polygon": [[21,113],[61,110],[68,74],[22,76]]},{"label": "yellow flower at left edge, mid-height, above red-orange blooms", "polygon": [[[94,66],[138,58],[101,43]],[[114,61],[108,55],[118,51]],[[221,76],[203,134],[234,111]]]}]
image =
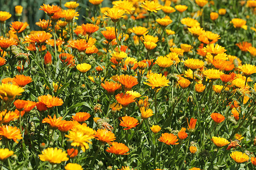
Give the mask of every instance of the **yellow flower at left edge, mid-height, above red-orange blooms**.
[{"label": "yellow flower at left edge, mid-height, above red-orange blooms", "polygon": [[24,91],[22,87],[19,87],[18,85],[14,84],[1,84],[0,85],[0,92],[4,93],[5,96],[9,98],[15,98],[17,95],[21,95],[21,93]]}]

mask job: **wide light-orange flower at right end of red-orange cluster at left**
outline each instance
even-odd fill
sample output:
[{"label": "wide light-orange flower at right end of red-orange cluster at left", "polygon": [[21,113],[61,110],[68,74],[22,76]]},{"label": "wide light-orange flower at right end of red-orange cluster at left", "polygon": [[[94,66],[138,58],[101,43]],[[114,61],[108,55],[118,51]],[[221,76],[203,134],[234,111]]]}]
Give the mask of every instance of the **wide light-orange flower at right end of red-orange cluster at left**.
[{"label": "wide light-orange flower at right end of red-orange cluster at left", "polygon": [[54,106],[61,106],[63,104],[62,99],[58,97],[52,97],[51,95],[43,95],[38,97],[38,101],[46,105],[48,109]]}]

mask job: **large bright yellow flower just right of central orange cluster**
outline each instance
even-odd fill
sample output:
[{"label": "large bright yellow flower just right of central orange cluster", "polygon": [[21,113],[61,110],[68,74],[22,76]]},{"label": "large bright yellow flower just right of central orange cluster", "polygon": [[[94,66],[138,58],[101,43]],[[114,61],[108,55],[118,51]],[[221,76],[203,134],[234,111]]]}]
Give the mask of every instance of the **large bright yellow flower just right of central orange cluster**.
[{"label": "large bright yellow flower just right of central orange cluster", "polygon": [[148,82],[144,82],[144,84],[151,86],[152,89],[169,86],[169,80],[164,75],[162,76],[162,74],[152,72],[147,77],[146,81]]}]

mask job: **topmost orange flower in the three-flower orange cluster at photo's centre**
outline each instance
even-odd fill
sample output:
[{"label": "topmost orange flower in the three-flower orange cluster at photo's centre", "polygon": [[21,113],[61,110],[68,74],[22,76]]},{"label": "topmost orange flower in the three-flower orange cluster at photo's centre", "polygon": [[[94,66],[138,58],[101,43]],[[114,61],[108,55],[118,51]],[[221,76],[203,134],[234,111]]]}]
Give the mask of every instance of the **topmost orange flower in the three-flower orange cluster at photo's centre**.
[{"label": "topmost orange flower in the three-flower orange cluster at photo's centre", "polygon": [[131,88],[138,84],[138,80],[136,77],[133,77],[132,75],[120,75],[117,77],[118,82],[120,82],[124,89],[129,91]]}]

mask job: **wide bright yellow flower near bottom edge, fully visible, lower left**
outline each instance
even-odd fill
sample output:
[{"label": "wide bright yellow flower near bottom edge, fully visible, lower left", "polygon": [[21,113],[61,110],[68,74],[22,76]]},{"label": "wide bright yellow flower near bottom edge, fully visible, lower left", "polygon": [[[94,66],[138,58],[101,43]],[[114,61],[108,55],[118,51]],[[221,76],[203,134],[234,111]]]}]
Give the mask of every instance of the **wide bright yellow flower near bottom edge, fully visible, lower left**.
[{"label": "wide bright yellow flower near bottom edge, fully visible, lower left", "polygon": [[46,148],[42,151],[42,154],[38,156],[41,161],[48,161],[51,164],[69,160],[69,158],[67,158],[67,153],[58,148]]}]

